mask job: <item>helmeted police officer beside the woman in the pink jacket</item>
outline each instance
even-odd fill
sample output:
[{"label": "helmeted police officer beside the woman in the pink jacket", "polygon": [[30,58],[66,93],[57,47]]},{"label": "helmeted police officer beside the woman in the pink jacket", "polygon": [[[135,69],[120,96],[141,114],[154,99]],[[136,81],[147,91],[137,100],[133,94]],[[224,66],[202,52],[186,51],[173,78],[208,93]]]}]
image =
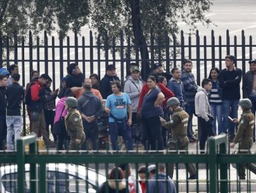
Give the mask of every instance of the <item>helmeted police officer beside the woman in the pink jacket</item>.
[{"label": "helmeted police officer beside the woman in the pink jacket", "polygon": [[80,147],[85,140],[82,118],[80,112],[76,110],[76,108],[77,99],[68,97],[65,101],[65,109],[68,111],[68,114],[65,116],[65,125],[68,136],[71,139],[69,144],[70,150],[77,150],[77,145]]}]

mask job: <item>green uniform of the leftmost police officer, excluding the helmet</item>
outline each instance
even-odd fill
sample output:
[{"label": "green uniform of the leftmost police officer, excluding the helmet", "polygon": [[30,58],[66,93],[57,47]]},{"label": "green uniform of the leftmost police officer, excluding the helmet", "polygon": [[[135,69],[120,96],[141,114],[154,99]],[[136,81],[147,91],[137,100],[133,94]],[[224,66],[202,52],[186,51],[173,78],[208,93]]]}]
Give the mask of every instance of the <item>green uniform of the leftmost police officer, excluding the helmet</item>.
[{"label": "green uniform of the leftmost police officer, excluding the helmet", "polygon": [[[71,138],[70,150],[77,150],[77,145],[82,145],[85,140],[84,128],[82,126],[82,117],[80,112],[73,108],[66,114],[65,125],[68,136]],[[80,139],[80,144],[77,144],[75,139]]]}]

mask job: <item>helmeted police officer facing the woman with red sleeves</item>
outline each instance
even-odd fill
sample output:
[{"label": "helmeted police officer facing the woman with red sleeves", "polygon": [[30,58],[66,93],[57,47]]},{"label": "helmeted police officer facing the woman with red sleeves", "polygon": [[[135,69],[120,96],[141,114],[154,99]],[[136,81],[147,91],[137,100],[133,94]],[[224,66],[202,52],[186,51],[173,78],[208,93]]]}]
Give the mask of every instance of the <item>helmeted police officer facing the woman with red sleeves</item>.
[{"label": "helmeted police officer facing the woman with red sleeves", "polygon": [[[171,130],[172,137],[168,141],[170,150],[186,150],[188,148],[188,118],[189,115],[185,110],[180,107],[179,99],[172,97],[167,101],[167,108],[174,112],[169,122],[161,118],[163,127]],[[185,152],[181,152],[185,153]],[[169,164],[170,177],[173,177],[174,164]],[[188,164],[188,172],[190,173],[189,179],[197,179],[196,169],[192,163]]]}]

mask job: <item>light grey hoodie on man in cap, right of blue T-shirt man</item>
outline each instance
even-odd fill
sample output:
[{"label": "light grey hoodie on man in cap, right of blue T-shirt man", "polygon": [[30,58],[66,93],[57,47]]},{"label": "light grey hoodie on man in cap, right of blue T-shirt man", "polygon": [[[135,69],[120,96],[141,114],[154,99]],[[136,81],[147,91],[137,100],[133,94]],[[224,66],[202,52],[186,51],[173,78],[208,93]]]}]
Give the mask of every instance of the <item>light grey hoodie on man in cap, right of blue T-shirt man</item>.
[{"label": "light grey hoodie on man in cap, right of blue T-shirt man", "polygon": [[136,81],[132,77],[129,77],[125,82],[124,92],[126,92],[131,99],[132,112],[137,112],[139,96],[142,88],[143,81]]}]

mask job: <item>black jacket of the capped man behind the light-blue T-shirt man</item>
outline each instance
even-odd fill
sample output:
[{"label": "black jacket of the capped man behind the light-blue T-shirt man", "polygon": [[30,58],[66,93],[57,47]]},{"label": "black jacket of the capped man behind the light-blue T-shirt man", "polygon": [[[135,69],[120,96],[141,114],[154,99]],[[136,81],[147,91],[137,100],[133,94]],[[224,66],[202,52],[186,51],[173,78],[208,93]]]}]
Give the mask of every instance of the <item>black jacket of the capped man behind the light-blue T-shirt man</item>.
[{"label": "black jacket of the capped man behind the light-blue T-shirt man", "polygon": [[111,81],[120,81],[120,79],[117,76],[110,77],[108,74],[105,74],[100,81],[100,94],[103,99],[107,99],[107,96],[113,93],[111,90]]}]

